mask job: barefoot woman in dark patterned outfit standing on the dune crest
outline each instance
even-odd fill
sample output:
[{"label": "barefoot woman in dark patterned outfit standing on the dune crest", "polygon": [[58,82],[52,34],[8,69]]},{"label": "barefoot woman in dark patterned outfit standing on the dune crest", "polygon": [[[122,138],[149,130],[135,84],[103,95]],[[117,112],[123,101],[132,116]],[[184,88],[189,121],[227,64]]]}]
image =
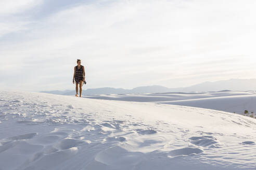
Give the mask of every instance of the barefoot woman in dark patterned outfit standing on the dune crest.
[{"label": "barefoot woman in dark patterned outfit standing on the dune crest", "polygon": [[80,97],[82,94],[82,86],[83,82],[85,81],[85,72],[84,72],[84,66],[81,65],[81,60],[77,60],[76,63],[78,63],[77,66],[74,67],[74,76],[73,76],[73,84],[75,82],[75,91],[76,91],[76,97],[78,97],[78,84],[80,84]]}]

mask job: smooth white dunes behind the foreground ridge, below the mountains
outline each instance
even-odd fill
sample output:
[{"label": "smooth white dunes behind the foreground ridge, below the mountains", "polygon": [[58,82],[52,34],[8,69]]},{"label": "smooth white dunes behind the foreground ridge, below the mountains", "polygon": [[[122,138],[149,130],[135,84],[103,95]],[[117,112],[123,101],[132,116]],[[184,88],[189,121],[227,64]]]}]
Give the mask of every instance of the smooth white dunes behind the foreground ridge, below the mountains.
[{"label": "smooth white dunes behind the foreground ridge, below the mountains", "polygon": [[256,93],[252,91],[220,91],[201,93],[153,93],[153,94],[112,94],[84,96],[105,100],[154,102],[182,106],[193,106],[243,113],[245,110],[256,112]]}]

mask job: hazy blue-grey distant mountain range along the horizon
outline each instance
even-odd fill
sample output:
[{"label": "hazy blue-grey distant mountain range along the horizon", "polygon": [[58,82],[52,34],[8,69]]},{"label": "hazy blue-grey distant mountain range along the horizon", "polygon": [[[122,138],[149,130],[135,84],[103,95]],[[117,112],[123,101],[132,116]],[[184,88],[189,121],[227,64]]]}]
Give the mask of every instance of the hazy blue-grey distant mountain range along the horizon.
[{"label": "hazy blue-grey distant mountain range along the horizon", "polygon": [[[194,86],[185,88],[167,88],[163,86],[143,86],[136,87],[133,89],[122,89],[122,88],[96,88],[83,90],[83,95],[98,95],[98,94],[143,94],[143,93],[167,93],[167,92],[206,92],[206,91],[254,91],[256,90],[256,79],[230,79],[221,80],[216,82],[203,82]],[[75,90],[65,91],[41,91],[42,93],[52,93],[61,95],[74,95]]]}]

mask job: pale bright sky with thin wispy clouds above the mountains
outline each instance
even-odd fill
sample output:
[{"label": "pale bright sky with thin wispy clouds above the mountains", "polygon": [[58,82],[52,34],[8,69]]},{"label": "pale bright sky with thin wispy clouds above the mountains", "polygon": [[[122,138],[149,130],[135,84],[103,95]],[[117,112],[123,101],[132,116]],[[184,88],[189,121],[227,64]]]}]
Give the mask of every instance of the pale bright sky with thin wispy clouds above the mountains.
[{"label": "pale bright sky with thin wispy clouds above the mountains", "polygon": [[256,78],[254,0],[0,0],[0,90]]}]

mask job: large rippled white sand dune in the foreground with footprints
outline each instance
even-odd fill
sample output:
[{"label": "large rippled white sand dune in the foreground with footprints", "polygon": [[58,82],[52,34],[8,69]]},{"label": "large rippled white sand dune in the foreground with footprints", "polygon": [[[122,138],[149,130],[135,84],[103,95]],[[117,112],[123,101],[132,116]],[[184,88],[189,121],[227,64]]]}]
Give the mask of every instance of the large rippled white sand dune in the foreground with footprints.
[{"label": "large rippled white sand dune in the foreground with footprints", "polygon": [[1,170],[256,168],[249,117],[44,93],[0,96]]}]

